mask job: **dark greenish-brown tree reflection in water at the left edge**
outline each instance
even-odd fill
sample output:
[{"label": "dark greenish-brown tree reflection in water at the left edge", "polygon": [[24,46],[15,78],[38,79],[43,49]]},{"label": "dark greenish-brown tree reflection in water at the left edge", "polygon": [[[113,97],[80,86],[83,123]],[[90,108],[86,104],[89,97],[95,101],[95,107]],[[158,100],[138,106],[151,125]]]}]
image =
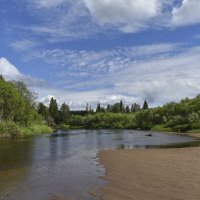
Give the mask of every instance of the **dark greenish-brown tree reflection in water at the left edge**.
[{"label": "dark greenish-brown tree reflection in water at the left edge", "polygon": [[33,139],[0,141],[0,196],[23,183],[32,161]]}]

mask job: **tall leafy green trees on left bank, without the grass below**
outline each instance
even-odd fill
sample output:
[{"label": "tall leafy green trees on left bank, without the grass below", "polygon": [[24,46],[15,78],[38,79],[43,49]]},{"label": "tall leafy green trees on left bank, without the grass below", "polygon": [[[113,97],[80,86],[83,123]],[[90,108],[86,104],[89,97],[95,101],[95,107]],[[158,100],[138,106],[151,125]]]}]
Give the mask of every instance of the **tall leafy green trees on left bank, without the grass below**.
[{"label": "tall leafy green trees on left bank, without the grass below", "polygon": [[0,121],[27,126],[41,117],[35,110],[35,96],[23,82],[7,82],[0,76]]}]

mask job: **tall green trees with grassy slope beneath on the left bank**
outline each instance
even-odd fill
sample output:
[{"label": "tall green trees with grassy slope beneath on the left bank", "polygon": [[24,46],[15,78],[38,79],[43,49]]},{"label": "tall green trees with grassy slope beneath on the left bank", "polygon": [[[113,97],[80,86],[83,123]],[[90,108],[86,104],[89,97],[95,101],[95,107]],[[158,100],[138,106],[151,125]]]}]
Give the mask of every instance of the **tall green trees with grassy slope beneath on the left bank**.
[{"label": "tall green trees with grassy slope beneath on the left bank", "polygon": [[50,131],[37,112],[35,95],[25,84],[0,76],[0,137]]}]

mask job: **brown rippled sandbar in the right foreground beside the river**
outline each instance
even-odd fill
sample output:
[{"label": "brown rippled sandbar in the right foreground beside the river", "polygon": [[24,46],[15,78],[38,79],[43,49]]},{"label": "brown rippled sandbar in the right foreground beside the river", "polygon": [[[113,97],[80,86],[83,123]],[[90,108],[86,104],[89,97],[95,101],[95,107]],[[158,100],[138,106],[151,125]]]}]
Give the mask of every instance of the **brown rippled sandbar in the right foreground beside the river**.
[{"label": "brown rippled sandbar in the right foreground beside the river", "polygon": [[99,153],[108,184],[102,200],[199,200],[200,148]]}]

